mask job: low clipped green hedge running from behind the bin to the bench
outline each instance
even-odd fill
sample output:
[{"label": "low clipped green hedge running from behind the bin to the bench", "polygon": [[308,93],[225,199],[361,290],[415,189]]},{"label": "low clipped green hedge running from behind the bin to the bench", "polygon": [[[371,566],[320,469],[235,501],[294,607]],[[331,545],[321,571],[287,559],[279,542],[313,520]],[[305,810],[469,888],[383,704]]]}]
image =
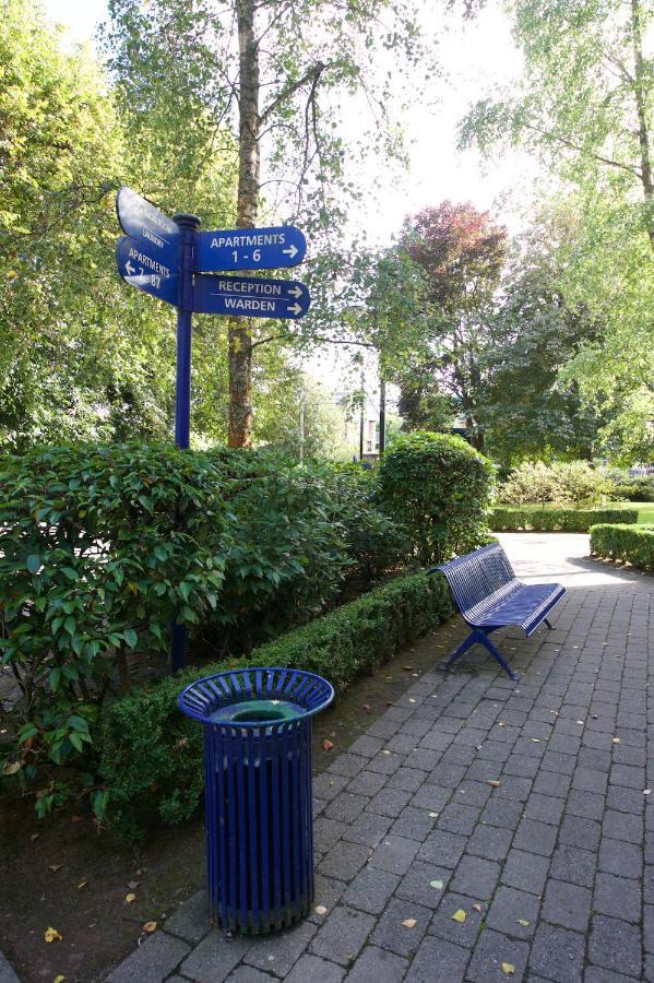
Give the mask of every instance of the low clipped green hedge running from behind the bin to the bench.
[{"label": "low clipped green hedge running from behind the bin to the bench", "polygon": [[104,712],[100,772],[114,829],[140,839],[188,819],[202,795],[202,727],[177,708],[181,688],[237,665],[297,666],[344,689],[452,614],[442,577],[399,577],[254,650],[249,660],[187,670],[116,700]]}]

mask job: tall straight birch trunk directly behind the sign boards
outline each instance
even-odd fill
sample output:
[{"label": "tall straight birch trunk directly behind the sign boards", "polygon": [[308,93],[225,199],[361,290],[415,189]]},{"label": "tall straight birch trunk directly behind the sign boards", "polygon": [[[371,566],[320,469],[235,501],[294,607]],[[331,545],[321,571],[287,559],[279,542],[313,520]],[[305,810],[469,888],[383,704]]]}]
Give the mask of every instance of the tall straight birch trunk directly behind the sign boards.
[{"label": "tall straight birch trunk directly behind the sign boards", "polygon": [[[259,49],[254,36],[254,0],[238,0],[239,176],[237,225],[257,224],[260,182]],[[247,318],[230,318],[229,447],[252,446],[252,332]]]}]

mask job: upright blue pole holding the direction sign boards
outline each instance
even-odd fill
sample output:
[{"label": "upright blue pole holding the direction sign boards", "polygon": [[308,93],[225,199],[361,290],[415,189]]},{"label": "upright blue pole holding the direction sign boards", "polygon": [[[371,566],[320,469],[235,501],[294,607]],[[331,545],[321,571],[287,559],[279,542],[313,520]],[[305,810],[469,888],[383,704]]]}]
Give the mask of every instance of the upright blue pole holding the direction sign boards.
[{"label": "upright blue pole holding the direction sign boards", "polygon": [[[173,216],[181,229],[180,297],[177,307],[177,384],[175,389],[175,445],[188,450],[191,437],[191,318],[193,310],[193,250],[200,220],[181,212]],[[173,625],[173,672],[187,664],[187,629]]]}]

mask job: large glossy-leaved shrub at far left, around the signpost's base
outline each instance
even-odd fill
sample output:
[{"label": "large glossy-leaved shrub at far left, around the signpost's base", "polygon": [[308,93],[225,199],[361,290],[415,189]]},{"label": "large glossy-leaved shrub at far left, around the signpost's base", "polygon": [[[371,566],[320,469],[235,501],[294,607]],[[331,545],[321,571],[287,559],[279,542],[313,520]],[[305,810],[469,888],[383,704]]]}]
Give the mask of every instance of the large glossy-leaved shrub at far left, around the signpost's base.
[{"label": "large glossy-leaved shrub at far left, around the signpost's base", "polygon": [[216,606],[224,506],[205,458],[139,443],[8,455],[0,485],[0,653],[21,695],[3,770],[29,781],[88,750],[126,650],[163,652],[174,617]]}]

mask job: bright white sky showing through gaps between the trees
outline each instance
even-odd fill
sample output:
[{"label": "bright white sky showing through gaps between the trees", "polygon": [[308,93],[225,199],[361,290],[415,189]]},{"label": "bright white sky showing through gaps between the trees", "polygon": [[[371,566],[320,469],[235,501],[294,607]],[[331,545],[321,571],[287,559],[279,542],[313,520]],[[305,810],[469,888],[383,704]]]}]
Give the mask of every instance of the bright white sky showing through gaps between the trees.
[{"label": "bright white sky showing through gaps between the trees", "polygon": [[[107,14],[105,0],[44,2],[52,20],[66,26],[71,43],[93,40],[96,25]],[[350,232],[365,227],[370,242],[389,245],[407,214],[443,199],[472,201],[496,214],[501,210],[502,222],[516,232],[524,225],[520,203],[528,200],[536,175],[533,162],[519,152],[504,152],[500,159],[484,162],[477,151],[456,147],[457,125],[468,106],[515,81],[522,70],[501,0],[488,0],[478,17],[465,24],[445,13],[444,4],[431,0],[423,19],[425,34],[437,39],[442,78],[432,90],[431,104],[416,99],[402,118],[408,173],[390,169],[379,158],[369,159],[359,173],[370,191],[350,216]],[[399,74],[397,86],[403,84]],[[399,88],[399,98],[401,95]],[[345,121],[356,135],[356,111],[346,110]],[[338,388],[348,365],[348,355],[336,345],[312,358],[308,367]]]}]

